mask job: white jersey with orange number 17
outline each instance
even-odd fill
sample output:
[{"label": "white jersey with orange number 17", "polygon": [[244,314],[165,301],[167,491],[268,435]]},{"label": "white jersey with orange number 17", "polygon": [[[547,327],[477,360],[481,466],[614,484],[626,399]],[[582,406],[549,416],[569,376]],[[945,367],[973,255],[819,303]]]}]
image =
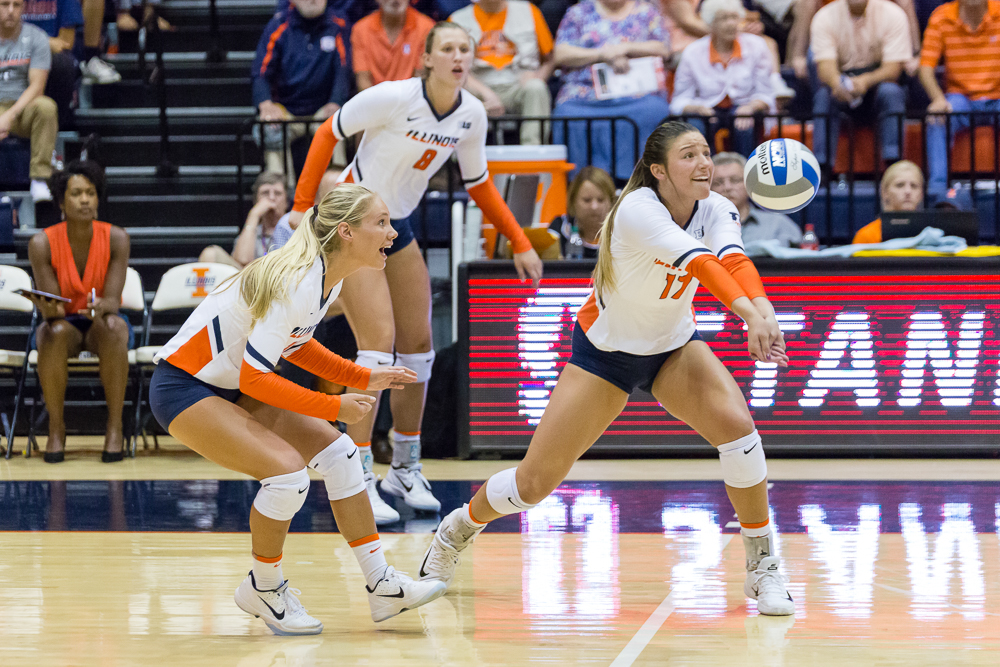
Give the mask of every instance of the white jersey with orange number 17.
[{"label": "white jersey with orange number 17", "polygon": [[611,263],[615,289],[595,293],[577,321],[595,347],[608,352],[659,354],[694,334],[692,302],[698,280],[685,267],[708,253],[718,259],[743,253],[740,214],[711,193],[696,202],[691,220],[678,225],[650,188],[627,194],[615,214]]}]

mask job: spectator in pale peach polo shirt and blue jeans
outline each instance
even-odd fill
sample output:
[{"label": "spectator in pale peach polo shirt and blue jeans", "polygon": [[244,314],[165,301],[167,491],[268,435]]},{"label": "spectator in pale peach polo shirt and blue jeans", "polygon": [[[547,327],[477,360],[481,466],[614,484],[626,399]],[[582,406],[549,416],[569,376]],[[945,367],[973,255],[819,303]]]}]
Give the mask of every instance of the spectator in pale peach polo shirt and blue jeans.
[{"label": "spectator in pale peach polo shirt and blue jeans", "polygon": [[906,13],[889,0],[835,0],[816,12],[810,34],[820,82],[813,97],[817,161],[833,164],[841,112],[869,125],[884,117],[882,159],[898,160],[906,93],[897,81],[913,55]]}]

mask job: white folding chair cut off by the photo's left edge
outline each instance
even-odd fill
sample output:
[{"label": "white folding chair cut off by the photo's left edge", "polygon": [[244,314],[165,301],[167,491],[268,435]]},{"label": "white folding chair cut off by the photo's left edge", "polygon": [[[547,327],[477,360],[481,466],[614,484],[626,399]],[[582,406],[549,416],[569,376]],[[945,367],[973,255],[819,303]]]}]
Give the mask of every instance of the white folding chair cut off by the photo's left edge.
[{"label": "white folding chair cut off by the photo's left edge", "polygon": [[[31,332],[35,328],[35,306],[23,296],[14,294],[17,289],[31,289],[31,276],[24,269],[16,266],[0,265],[0,313],[3,321],[0,323],[0,333],[3,340],[13,341],[24,338],[24,350],[8,350],[0,346],[0,378],[14,392],[12,415],[8,419],[7,408],[0,405],[0,422],[3,424],[3,437],[6,438],[4,458],[10,458],[14,450],[14,429],[17,428],[17,415],[24,398],[24,382],[28,374],[28,352],[31,346]],[[16,313],[16,314],[15,314]],[[4,392],[4,396],[10,396]]]}]

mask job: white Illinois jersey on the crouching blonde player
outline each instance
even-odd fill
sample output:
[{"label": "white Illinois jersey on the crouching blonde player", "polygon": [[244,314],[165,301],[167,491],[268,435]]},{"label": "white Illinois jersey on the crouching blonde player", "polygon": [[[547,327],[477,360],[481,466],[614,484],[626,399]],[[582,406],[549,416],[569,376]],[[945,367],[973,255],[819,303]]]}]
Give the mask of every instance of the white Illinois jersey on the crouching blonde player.
[{"label": "white Illinois jersey on the crouching blonde player", "polygon": [[317,257],[285,300],[275,301],[250,331],[250,310],[240,297],[240,277],[205,297],[173,338],[156,354],[202,382],[222,389],[239,389],[243,362],[263,373],[305,345],[329,305],[340,294],[337,283],[323,298],[326,265]]}]

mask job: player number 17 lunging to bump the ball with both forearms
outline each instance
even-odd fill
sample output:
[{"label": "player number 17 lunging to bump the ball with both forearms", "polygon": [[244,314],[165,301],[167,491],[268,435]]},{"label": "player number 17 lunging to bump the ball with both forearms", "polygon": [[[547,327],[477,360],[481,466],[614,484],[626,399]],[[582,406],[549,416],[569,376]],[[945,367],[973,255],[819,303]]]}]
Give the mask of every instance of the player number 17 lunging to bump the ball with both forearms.
[{"label": "player number 17 lunging to bump the ball with both forearms", "polygon": [[577,312],[573,354],[524,461],[444,518],[422,580],[449,583],[459,552],[486,523],[551,493],[641,387],[719,451],[742,526],[746,594],[762,614],[794,613],[771,549],[760,436],[736,382],[695,329],[691,304],[700,283],[746,322],[754,360],[787,365],[774,310],[743,254],[739,213],[711,191],[712,171],[708,144],[693,126],[668,122],[649,137],[601,229],[594,291]]}]

